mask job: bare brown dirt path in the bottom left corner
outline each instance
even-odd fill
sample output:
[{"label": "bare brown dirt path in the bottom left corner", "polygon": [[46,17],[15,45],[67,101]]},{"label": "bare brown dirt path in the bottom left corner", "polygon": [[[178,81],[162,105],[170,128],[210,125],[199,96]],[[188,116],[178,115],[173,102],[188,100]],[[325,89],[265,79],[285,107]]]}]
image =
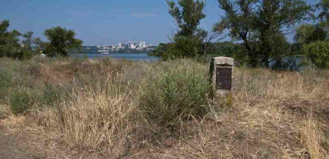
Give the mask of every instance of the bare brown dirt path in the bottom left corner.
[{"label": "bare brown dirt path in the bottom left corner", "polygon": [[0,125],[0,159],[36,159],[33,155],[20,153],[17,138],[5,134],[4,127]]}]

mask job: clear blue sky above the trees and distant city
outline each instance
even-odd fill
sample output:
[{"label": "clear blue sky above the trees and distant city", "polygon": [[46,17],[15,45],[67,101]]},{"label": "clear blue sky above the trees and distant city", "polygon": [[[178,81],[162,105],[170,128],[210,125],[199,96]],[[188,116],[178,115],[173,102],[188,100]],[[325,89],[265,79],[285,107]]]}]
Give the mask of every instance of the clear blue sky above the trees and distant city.
[{"label": "clear blue sky above the trees and distant city", "polygon": [[[210,30],[223,12],[217,0],[207,0],[205,13],[201,26]],[[169,42],[175,29],[165,0],[1,0],[3,19],[10,20],[10,30],[33,31],[42,39],[43,31],[51,27],[74,29],[84,45],[132,40],[157,45]]]}]

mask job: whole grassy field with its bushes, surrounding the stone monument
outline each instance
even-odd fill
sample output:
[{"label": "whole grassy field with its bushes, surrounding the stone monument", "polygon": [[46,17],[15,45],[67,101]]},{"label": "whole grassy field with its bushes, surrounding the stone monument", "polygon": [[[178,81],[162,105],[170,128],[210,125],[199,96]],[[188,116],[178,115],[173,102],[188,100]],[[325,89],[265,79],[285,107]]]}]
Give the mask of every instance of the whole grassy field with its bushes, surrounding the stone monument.
[{"label": "whole grassy field with its bushes, surrounding the stone monument", "polygon": [[192,60],[1,58],[1,124],[41,158],[329,158],[329,70],[234,69],[232,107],[208,79]]}]

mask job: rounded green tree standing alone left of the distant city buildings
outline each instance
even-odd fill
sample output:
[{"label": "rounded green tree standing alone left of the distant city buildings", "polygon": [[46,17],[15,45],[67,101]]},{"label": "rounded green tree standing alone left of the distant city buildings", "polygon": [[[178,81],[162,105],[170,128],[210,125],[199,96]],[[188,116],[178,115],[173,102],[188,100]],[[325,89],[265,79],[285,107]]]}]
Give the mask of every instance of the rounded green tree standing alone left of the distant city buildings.
[{"label": "rounded green tree standing alone left of the distant city buildings", "polygon": [[58,26],[46,29],[43,34],[49,41],[36,39],[36,43],[41,45],[48,56],[68,56],[69,52],[79,51],[82,47],[83,41],[75,38],[73,30]]}]

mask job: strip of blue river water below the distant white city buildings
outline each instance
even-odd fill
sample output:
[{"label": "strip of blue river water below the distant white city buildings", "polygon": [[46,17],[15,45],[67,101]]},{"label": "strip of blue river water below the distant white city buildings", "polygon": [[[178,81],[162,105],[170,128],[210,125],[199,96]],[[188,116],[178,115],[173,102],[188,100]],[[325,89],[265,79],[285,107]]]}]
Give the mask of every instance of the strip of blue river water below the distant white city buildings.
[{"label": "strip of blue river water below the distant white city buildings", "polygon": [[127,59],[134,61],[158,61],[159,57],[148,56],[147,53],[109,53],[109,54],[71,54],[73,57],[88,57],[89,59],[113,57],[114,59]]}]

